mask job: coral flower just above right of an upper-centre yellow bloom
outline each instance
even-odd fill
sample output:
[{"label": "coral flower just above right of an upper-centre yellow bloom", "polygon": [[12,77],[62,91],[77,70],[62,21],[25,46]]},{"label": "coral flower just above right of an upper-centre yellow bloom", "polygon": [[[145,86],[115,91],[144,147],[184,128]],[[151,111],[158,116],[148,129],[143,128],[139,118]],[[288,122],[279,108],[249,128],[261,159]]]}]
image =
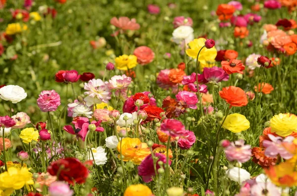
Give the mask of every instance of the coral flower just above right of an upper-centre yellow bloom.
[{"label": "coral flower just above right of an upper-centre yellow bloom", "polygon": [[147,65],[154,59],[154,53],[148,46],[139,46],[135,48],[133,54],[137,56],[137,62],[141,65]]}]

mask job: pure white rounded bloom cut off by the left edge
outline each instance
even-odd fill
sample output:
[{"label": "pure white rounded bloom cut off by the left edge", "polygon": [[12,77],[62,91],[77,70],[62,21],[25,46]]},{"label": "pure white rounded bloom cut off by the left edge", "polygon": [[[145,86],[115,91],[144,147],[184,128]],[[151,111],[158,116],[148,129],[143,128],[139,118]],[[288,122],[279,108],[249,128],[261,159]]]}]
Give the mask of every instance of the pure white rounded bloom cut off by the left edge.
[{"label": "pure white rounded bloom cut off by the left edge", "polygon": [[7,85],[0,88],[0,98],[16,104],[27,97],[25,90],[17,85]]}]

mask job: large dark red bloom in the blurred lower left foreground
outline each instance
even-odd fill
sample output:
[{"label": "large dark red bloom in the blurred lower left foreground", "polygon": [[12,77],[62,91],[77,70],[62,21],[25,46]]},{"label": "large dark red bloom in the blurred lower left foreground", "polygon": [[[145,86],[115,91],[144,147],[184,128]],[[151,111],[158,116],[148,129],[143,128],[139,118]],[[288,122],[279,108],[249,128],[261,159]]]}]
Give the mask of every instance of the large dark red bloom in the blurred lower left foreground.
[{"label": "large dark red bloom in the blurred lower left foreground", "polygon": [[87,167],[73,157],[61,158],[51,162],[48,172],[50,175],[57,175],[59,180],[66,181],[71,185],[85,183],[89,175]]}]

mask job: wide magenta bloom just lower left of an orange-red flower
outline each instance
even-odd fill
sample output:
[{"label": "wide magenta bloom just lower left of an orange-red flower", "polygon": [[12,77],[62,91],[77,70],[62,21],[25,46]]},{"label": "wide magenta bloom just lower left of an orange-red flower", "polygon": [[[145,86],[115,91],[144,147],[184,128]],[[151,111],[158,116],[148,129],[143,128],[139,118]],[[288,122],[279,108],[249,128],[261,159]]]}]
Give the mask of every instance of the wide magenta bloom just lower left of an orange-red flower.
[{"label": "wide magenta bloom just lower left of an orange-red flower", "polygon": [[199,77],[203,83],[217,83],[220,81],[227,81],[229,79],[229,75],[222,68],[216,66],[211,68],[205,67]]}]

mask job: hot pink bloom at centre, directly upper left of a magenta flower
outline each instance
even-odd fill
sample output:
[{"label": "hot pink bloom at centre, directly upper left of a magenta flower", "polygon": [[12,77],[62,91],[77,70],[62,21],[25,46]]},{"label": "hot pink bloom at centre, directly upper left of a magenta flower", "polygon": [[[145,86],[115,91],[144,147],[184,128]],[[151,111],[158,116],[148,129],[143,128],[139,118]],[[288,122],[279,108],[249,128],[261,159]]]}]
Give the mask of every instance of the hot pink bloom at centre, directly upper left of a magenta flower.
[{"label": "hot pink bloom at centre, directly upper left of a magenta flower", "polygon": [[165,119],[161,123],[161,131],[167,135],[175,138],[180,136],[185,136],[187,131],[183,123],[177,119]]}]

